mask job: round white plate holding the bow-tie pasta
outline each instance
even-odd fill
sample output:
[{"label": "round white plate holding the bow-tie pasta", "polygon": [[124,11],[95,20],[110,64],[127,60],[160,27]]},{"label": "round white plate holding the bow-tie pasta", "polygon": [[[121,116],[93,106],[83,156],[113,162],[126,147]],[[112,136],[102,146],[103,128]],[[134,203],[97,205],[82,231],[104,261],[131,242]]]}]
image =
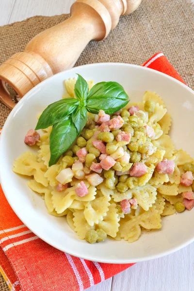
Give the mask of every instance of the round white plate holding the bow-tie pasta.
[{"label": "round white plate holding the bow-tie pasta", "polygon": [[[81,74],[86,80],[117,81],[132,101],[141,100],[146,90],[159,94],[172,115],[170,135],[176,148],[194,157],[194,92],[160,72],[128,64],[94,64],[59,73],[33,88],[10,113],[0,137],[0,179],[12,209],[38,237],[71,255],[106,263],[130,263],[159,258],[194,241],[194,210],[165,217],[162,229],[143,234],[137,242],[89,244],[81,241],[63,217],[47,213],[44,201],[26,185],[26,178],[12,172],[14,159],[29,150],[26,132],[35,128],[37,114],[62,98],[64,80]],[[32,148],[30,148],[32,150]],[[9,218],[7,218],[9,219]]]}]

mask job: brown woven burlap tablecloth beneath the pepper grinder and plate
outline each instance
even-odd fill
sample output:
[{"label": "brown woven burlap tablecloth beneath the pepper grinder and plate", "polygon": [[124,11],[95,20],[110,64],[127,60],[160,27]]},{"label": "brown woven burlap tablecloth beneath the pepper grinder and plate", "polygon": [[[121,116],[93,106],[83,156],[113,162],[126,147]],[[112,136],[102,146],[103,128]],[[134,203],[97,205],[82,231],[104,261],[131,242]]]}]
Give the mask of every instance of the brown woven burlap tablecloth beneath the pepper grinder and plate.
[{"label": "brown woven burlap tablecloth beneath the pepper grinder and plate", "polygon": [[[121,17],[101,42],[90,42],[76,65],[120,62],[141,65],[162,51],[186,83],[194,89],[194,9],[187,0],[143,0],[137,11]],[[37,33],[69,15],[35,16],[0,27],[0,63],[22,51]],[[64,52],[65,53],[65,52]],[[0,127],[10,110],[0,102]],[[9,290],[0,276],[0,291]]]}]

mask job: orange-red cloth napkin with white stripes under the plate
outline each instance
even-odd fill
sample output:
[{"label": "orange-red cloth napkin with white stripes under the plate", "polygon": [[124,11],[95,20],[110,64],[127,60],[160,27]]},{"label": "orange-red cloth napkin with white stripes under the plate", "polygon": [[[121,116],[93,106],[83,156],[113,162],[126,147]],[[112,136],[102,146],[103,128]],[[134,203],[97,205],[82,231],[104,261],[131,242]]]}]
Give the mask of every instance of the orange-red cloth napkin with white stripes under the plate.
[{"label": "orange-red cloth napkin with white stripes under the plate", "polygon": [[[143,66],[184,83],[162,52]],[[12,291],[82,291],[132,265],[79,259],[43,242],[19,220],[0,187],[0,273]]]}]

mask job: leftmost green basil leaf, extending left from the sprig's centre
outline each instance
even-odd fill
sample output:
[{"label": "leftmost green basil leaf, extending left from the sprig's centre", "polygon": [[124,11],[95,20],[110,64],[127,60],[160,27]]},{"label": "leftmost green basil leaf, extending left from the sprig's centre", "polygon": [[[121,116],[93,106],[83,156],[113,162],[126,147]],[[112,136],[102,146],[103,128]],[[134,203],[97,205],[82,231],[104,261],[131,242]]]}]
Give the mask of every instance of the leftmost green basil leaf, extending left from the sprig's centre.
[{"label": "leftmost green basil leaf, extending left from the sprig's centre", "polygon": [[80,105],[80,101],[75,98],[65,98],[50,104],[40,115],[35,129],[46,129],[56,124],[71,114],[78,105]]}]

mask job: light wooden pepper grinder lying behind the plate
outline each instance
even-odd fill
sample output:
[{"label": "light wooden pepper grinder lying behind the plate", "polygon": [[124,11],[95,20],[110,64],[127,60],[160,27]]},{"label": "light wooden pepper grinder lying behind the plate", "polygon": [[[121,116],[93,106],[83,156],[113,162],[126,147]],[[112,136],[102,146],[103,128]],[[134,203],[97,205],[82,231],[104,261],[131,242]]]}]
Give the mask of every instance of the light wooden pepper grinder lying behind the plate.
[{"label": "light wooden pepper grinder lying behind the plate", "polygon": [[132,13],[141,0],[77,0],[71,17],[36,35],[24,52],[0,65],[0,100],[10,109],[16,103],[6,88],[23,97],[48,77],[75,65],[91,40],[102,40],[115,28],[119,17]]}]

